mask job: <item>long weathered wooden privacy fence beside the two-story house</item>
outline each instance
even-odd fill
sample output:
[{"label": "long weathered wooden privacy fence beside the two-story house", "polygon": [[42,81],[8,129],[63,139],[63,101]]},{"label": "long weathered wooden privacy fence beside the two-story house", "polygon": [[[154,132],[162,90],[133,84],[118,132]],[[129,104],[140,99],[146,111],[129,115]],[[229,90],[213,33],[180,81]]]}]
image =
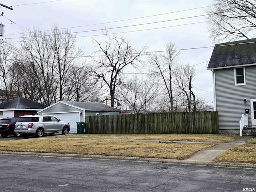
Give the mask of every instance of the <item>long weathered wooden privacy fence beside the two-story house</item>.
[{"label": "long weathered wooden privacy fence beside the two-story house", "polygon": [[89,134],[218,134],[218,112],[85,116]]}]

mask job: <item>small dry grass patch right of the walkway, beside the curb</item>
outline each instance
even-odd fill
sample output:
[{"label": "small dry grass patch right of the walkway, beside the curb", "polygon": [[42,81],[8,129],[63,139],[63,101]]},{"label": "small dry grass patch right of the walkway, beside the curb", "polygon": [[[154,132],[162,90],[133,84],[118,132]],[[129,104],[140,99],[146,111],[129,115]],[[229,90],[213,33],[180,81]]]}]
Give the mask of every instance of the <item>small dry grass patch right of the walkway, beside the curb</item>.
[{"label": "small dry grass patch right of the walkway, beside the curb", "polygon": [[220,154],[214,161],[256,163],[256,145],[235,146]]}]

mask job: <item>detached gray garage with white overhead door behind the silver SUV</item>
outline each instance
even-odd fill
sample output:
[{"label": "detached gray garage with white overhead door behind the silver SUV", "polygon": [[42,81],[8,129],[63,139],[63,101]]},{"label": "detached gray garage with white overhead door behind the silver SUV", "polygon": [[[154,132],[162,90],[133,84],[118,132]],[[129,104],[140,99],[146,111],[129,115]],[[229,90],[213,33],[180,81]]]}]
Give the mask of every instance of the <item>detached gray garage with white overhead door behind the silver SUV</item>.
[{"label": "detached gray garage with white overhead door behind the silver SUV", "polygon": [[58,101],[38,114],[50,114],[70,124],[70,133],[76,133],[76,122],[84,122],[88,115],[119,114],[119,110],[97,102]]}]

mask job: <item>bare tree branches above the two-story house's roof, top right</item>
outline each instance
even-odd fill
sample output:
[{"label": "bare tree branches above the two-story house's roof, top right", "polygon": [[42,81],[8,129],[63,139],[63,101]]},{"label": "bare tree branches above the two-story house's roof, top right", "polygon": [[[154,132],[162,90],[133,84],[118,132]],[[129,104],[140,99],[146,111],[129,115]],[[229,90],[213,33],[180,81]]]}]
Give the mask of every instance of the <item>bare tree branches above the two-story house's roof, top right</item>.
[{"label": "bare tree branches above the two-story house's roof, top right", "polygon": [[207,12],[210,37],[215,41],[224,39],[248,39],[256,32],[255,0],[215,0]]}]

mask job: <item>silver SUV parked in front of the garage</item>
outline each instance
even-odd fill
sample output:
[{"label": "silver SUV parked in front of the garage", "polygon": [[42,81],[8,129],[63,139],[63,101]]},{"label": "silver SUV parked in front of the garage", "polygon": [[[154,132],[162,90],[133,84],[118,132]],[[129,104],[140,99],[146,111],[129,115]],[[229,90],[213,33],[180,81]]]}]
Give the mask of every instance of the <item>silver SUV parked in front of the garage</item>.
[{"label": "silver SUV parked in front of the garage", "polygon": [[45,133],[53,135],[56,132],[68,134],[70,125],[52,115],[24,115],[20,116],[15,125],[15,133],[20,133],[22,137],[29,135],[42,137]]}]

